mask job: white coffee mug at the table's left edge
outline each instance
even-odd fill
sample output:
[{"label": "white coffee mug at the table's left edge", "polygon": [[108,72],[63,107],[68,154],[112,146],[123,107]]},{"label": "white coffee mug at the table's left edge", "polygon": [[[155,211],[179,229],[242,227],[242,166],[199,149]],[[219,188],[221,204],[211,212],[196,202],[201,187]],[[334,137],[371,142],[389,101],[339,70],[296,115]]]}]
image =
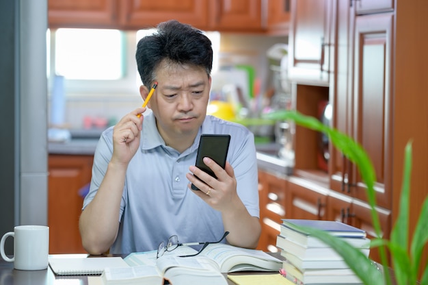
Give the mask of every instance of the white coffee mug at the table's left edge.
[{"label": "white coffee mug at the table's left edge", "polygon": [[[5,240],[14,237],[14,256],[5,255]],[[1,257],[14,262],[14,269],[42,270],[49,264],[49,227],[44,225],[18,225],[14,232],[3,235],[0,241]]]}]

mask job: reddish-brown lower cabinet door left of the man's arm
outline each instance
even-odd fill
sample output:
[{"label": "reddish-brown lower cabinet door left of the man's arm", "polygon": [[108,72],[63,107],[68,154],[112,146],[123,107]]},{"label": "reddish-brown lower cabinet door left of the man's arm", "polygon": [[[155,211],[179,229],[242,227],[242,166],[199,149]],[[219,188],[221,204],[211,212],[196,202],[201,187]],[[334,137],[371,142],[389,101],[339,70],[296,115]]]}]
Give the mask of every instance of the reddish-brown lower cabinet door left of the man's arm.
[{"label": "reddish-brown lower cabinet door left of the man's arm", "polygon": [[79,233],[83,197],[90,183],[93,156],[49,155],[49,253],[85,253]]}]

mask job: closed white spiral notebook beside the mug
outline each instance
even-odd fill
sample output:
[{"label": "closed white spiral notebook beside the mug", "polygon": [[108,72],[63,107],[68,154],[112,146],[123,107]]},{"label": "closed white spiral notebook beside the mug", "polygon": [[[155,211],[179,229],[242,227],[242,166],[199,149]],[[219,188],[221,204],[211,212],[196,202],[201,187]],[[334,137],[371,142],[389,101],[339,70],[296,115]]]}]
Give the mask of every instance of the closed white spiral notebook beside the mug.
[{"label": "closed white spiral notebook beside the mug", "polygon": [[106,267],[129,267],[121,257],[49,256],[49,266],[56,275],[100,275]]}]

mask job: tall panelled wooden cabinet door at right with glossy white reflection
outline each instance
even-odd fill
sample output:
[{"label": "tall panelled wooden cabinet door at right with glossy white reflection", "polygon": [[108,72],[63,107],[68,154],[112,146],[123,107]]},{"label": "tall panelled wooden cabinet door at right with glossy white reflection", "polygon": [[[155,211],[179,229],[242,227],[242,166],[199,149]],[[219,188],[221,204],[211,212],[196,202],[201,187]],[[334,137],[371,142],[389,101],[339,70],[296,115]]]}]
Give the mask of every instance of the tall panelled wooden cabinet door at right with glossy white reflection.
[{"label": "tall panelled wooden cabinet door at right with glossy white reflection", "polygon": [[[392,14],[356,17],[353,71],[353,138],[366,150],[376,173],[377,205],[390,209],[392,186]],[[353,169],[352,195],[367,201]]]}]

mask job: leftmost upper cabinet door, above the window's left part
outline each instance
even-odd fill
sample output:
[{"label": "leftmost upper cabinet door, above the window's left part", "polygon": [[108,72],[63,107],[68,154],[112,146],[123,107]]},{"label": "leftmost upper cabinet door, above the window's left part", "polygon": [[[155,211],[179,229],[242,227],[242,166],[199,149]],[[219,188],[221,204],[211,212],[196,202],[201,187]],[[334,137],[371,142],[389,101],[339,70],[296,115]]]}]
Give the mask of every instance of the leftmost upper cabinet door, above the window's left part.
[{"label": "leftmost upper cabinet door, above the window's left part", "polygon": [[49,0],[49,27],[112,27],[116,0]]}]

